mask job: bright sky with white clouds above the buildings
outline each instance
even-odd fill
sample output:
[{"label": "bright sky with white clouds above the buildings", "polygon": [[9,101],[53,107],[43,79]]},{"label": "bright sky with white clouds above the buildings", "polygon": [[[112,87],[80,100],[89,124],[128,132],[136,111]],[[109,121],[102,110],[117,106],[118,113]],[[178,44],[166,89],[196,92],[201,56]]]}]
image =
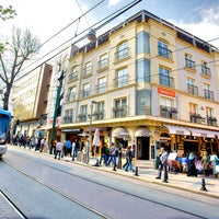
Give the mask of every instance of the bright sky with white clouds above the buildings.
[{"label": "bright sky with white clouds above the buildings", "polygon": [[[39,56],[43,57],[44,54],[64,44],[64,42],[69,39],[70,42],[77,41],[77,37],[80,38],[94,24],[132,1],[1,0],[1,5],[7,7],[11,4],[16,10],[18,15],[13,20],[0,21],[0,36],[5,38],[14,25],[22,30],[28,28],[33,35],[39,38],[41,43],[45,43],[57,32],[71,24],[61,34],[53,37],[51,41],[43,46]],[[94,5],[96,7],[94,8]],[[89,10],[89,13],[82,15]],[[142,0],[105,25],[96,34],[99,35],[101,31],[105,32],[110,30],[141,10],[147,10],[219,47],[219,0]]]}]

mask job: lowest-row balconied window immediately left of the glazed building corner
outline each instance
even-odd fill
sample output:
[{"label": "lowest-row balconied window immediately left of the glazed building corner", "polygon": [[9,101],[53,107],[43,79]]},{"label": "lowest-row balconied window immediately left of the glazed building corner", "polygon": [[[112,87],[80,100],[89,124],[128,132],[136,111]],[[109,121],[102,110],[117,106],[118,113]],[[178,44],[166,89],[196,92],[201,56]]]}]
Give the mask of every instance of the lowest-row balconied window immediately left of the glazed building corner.
[{"label": "lowest-row balconied window immediately left of the glazed building corner", "polygon": [[114,102],[114,118],[120,118],[127,116],[127,99],[117,99]]}]

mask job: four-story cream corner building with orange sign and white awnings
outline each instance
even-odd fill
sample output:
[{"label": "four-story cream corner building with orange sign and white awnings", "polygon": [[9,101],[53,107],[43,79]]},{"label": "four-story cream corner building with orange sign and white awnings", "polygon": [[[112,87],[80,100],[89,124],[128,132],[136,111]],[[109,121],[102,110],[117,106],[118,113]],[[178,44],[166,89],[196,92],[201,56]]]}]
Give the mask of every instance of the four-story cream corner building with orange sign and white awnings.
[{"label": "four-story cream corner building with orange sign and white awnings", "polygon": [[217,59],[212,45],[140,11],[72,50],[62,138],[85,140],[97,128],[101,145],[131,145],[138,161],[154,159],[161,146],[218,152]]}]

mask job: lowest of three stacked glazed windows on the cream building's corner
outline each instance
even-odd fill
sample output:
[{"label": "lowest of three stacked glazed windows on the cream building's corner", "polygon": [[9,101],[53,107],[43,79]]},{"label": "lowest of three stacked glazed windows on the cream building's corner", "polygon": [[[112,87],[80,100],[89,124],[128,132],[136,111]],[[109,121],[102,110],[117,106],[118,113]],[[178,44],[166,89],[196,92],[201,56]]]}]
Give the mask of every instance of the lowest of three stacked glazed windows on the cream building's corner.
[{"label": "lowest of three stacked glazed windows on the cream building's corner", "polygon": [[151,114],[151,91],[139,90],[137,91],[137,115],[150,115]]}]

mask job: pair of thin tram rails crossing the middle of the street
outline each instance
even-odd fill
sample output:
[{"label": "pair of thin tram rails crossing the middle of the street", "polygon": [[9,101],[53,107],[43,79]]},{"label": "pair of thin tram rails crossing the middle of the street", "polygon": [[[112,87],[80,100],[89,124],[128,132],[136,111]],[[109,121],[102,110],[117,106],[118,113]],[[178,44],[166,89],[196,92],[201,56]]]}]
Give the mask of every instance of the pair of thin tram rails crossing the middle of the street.
[{"label": "pair of thin tram rails crossing the middle of the street", "polygon": [[[26,155],[24,155],[24,154],[22,154],[22,153],[20,153],[20,155],[21,155],[23,159],[28,160],[28,159],[26,158]],[[96,211],[95,209],[91,208],[90,206],[84,205],[84,204],[81,203],[80,200],[68,196],[67,194],[62,193],[61,191],[56,189],[56,188],[53,187],[53,186],[49,186],[48,184],[46,184],[45,182],[38,180],[37,177],[33,177],[33,176],[26,174],[23,170],[20,170],[19,168],[14,168],[13,165],[11,165],[11,164],[10,164],[9,162],[7,162],[5,160],[4,160],[3,162],[4,162],[5,164],[8,164],[9,166],[15,169],[16,171],[19,171],[19,172],[22,173],[23,175],[25,175],[25,176],[27,176],[27,177],[30,177],[30,178],[36,181],[37,183],[41,183],[43,186],[46,186],[47,188],[49,188],[49,189],[51,189],[53,192],[55,192],[55,193],[61,195],[62,197],[68,198],[70,201],[73,201],[73,203],[76,203],[76,204],[82,206],[83,208],[95,212],[96,215],[99,215],[99,216],[102,217],[102,218],[110,218],[108,216],[106,216],[106,215],[104,215],[104,214],[102,214],[102,212]],[[35,163],[39,164],[39,163],[38,163],[38,160],[37,160],[37,161],[36,161],[36,160],[32,160],[32,162],[35,162]],[[93,183],[93,184],[95,184],[95,185],[107,187],[108,189],[116,191],[116,192],[118,192],[118,193],[120,193],[120,194],[123,194],[123,195],[136,197],[136,198],[138,198],[138,199],[141,199],[141,200],[145,200],[145,201],[150,201],[150,203],[153,203],[153,204],[157,204],[157,205],[166,207],[166,208],[171,208],[171,209],[174,209],[174,210],[184,212],[184,214],[189,214],[191,216],[194,216],[194,217],[197,217],[197,218],[206,218],[206,217],[203,217],[203,216],[200,216],[200,215],[197,215],[197,214],[187,211],[187,210],[182,209],[182,208],[176,208],[176,207],[166,205],[166,204],[164,204],[164,203],[153,200],[153,199],[151,199],[151,198],[147,198],[147,197],[143,197],[143,196],[136,195],[135,193],[131,193],[131,192],[122,191],[120,188],[115,187],[115,186],[113,186],[113,185],[110,186],[110,185],[103,184],[103,183],[101,183],[101,182],[96,182],[96,181],[94,181],[94,180],[88,178],[88,177],[85,177],[85,176],[81,176],[81,175],[78,175],[78,174],[74,174],[74,173],[69,173],[69,172],[67,172],[67,171],[65,171],[65,170],[61,170],[60,168],[56,168],[56,166],[54,166],[53,164],[48,164],[48,163],[46,163],[46,162],[43,162],[43,163],[41,163],[41,164],[44,165],[44,166],[47,166],[47,168],[49,168],[49,169],[51,169],[51,170],[59,171],[59,172],[61,172],[61,173],[71,175],[71,176],[73,176],[73,177],[77,177],[77,178],[80,178],[80,180],[83,180],[83,181]]]}]

